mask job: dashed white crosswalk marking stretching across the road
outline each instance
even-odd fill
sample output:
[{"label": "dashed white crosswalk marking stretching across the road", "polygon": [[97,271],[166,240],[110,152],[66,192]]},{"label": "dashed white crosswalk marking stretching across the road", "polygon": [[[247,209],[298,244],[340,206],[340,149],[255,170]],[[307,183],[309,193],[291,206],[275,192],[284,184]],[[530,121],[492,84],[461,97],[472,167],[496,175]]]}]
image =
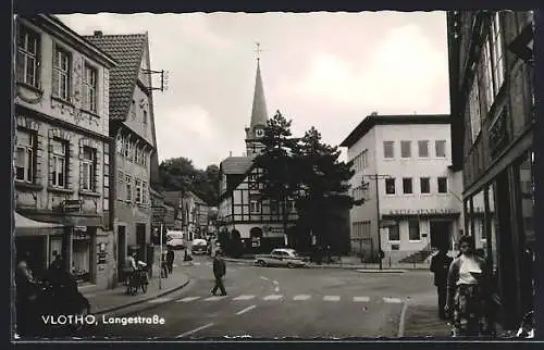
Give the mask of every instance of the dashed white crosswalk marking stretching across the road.
[{"label": "dashed white crosswalk marking stretching across the road", "polygon": [[356,297],[349,297],[349,298],[342,298],[341,296],[311,296],[311,295],[296,295],[296,296],[284,296],[280,293],[273,293],[273,295],[268,295],[268,296],[255,296],[255,295],[240,295],[236,297],[231,297],[231,296],[207,296],[207,297],[201,297],[201,296],[190,296],[190,297],[184,297],[181,299],[174,299],[174,298],[168,298],[168,297],[162,297],[162,298],[156,298],[151,299],[148,302],[149,303],[163,303],[163,302],[169,302],[169,301],[174,301],[174,302],[181,302],[181,303],[188,303],[188,302],[214,302],[214,301],[220,301],[220,300],[233,300],[233,301],[248,301],[248,300],[263,300],[263,301],[280,301],[280,300],[293,300],[293,301],[309,301],[309,300],[318,300],[318,301],[323,301],[323,302],[339,302],[342,300],[347,300],[351,302],[370,302],[373,300],[374,302],[385,302],[385,303],[401,303],[403,299],[401,298],[392,298],[392,297],[368,297],[368,296],[356,296]]}]

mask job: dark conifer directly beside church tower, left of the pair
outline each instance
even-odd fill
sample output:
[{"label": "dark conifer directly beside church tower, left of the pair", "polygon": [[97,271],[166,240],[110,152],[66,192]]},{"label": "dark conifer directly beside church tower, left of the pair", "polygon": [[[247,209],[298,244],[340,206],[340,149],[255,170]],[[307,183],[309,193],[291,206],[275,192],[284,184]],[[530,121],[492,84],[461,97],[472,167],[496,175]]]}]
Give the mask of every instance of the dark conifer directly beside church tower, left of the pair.
[{"label": "dark conifer directly beside church tower, left of the pair", "polygon": [[297,139],[292,137],[292,121],[287,121],[280,111],[268,120],[261,143],[261,154],[255,160],[255,166],[262,170],[259,182],[263,185],[261,199],[275,200],[283,205],[282,221],[287,233],[286,202],[298,189],[296,163],[293,153]]}]

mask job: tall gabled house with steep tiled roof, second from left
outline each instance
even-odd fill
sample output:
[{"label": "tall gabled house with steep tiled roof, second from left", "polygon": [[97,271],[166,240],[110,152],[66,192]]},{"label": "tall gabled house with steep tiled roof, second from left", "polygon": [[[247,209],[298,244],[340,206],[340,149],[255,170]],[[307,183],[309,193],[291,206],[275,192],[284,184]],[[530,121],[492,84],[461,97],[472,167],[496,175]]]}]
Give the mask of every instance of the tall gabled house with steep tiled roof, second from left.
[{"label": "tall gabled house with steep tiled roof, second from left", "polygon": [[148,35],[103,35],[97,30],[85,38],[119,63],[111,72],[110,85],[116,259],[123,262],[127,252],[136,251],[138,260],[149,262],[150,185],[154,180],[157,142]]}]

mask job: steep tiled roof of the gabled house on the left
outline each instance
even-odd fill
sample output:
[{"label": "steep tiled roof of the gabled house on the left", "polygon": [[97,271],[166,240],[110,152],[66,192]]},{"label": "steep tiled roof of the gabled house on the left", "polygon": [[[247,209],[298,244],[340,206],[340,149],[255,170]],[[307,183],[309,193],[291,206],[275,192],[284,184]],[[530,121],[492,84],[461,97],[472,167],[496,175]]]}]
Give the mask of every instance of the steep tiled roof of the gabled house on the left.
[{"label": "steep tiled roof of the gabled house on the left", "polygon": [[84,38],[118,62],[118,66],[110,71],[110,120],[124,121],[133,99],[147,35],[95,35]]}]

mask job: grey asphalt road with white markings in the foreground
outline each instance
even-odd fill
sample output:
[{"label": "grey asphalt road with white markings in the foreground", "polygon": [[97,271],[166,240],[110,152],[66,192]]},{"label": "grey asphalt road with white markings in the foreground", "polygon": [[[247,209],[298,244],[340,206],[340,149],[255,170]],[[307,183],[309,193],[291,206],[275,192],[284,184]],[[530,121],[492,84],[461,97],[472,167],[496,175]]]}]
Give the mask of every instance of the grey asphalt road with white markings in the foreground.
[{"label": "grey asphalt road with white markings in the foreground", "polygon": [[[162,317],[163,324],[106,324],[100,317],[94,336],[141,340],[396,337],[404,301],[433,290],[426,272],[369,274],[228,263],[227,296],[211,298],[208,257],[196,257],[194,265],[176,268],[191,277],[187,287],[123,313]],[[111,322],[110,316],[114,315],[106,321]]]}]

